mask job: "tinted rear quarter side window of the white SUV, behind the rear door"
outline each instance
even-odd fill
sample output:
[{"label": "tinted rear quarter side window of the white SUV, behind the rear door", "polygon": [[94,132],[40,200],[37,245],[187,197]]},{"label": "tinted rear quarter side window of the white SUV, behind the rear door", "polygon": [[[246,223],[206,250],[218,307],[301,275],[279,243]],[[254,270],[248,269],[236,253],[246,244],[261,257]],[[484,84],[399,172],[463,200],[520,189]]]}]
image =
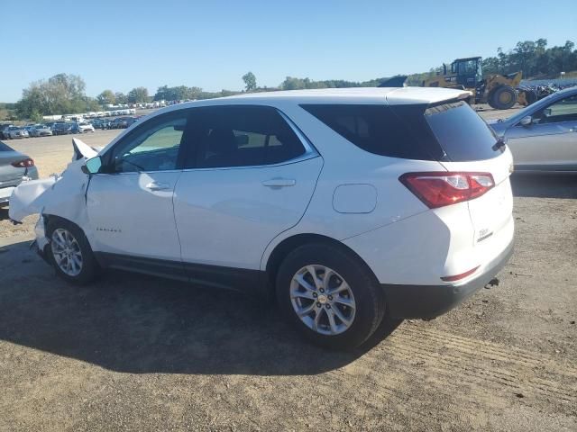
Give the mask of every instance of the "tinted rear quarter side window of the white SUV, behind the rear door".
[{"label": "tinted rear quarter side window of the white SUV, behind the rear door", "polygon": [[371,153],[421,160],[443,157],[423,119],[423,105],[301,106],[355,146]]}]

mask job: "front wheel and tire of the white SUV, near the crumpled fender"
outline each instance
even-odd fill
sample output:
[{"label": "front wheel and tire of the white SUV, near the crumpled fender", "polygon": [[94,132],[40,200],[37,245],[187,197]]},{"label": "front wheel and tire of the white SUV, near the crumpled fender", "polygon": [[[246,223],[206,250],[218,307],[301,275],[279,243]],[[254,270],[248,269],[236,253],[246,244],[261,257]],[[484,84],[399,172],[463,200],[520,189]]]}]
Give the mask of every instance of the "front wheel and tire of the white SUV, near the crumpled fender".
[{"label": "front wheel and tire of the white SUV, near the crumpled fender", "polygon": [[[50,238],[46,255],[60,278],[78,285],[96,279],[99,267],[82,229],[69,220],[55,218],[49,221],[46,233]],[[76,259],[69,258],[72,256]]]}]

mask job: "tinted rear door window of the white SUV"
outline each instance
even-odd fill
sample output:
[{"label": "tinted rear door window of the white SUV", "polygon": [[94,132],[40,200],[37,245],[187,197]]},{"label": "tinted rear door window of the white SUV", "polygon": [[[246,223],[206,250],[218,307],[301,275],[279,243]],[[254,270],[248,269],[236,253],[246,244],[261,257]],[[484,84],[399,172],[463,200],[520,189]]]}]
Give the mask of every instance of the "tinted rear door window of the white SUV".
[{"label": "tinted rear door window of the white SUV", "polygon": [[187,167],[279,164],[306,151],[289,124],[269,106],[196,108],[191,122],[194,154]]}]

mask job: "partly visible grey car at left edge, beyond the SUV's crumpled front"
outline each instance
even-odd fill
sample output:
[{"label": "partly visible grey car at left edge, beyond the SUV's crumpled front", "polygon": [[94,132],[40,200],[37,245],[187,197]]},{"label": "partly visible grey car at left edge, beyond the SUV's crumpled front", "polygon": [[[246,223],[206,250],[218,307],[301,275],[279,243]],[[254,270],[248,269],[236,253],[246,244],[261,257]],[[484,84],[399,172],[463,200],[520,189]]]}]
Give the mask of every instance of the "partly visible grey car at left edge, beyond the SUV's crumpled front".
[{"label": "partly visible grey car at left edge, beyond the SUV's crumpled front", "polygon": [[37,178],[38,170],[32,158],[0,141],[0,206],[8,203],[18,184]]}]

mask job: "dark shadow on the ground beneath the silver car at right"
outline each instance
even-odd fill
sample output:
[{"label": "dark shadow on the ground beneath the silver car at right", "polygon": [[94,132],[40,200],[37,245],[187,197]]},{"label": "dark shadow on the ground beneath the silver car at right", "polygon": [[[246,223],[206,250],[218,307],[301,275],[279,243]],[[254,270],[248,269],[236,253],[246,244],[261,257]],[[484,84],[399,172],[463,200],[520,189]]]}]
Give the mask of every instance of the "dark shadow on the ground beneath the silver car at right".
[{"label": "dark shadow on the ground beneath the silver car at right", "polygon": [[577,198],[577,175],[525,174],[511,176],[514,196],[533,198]]}]

